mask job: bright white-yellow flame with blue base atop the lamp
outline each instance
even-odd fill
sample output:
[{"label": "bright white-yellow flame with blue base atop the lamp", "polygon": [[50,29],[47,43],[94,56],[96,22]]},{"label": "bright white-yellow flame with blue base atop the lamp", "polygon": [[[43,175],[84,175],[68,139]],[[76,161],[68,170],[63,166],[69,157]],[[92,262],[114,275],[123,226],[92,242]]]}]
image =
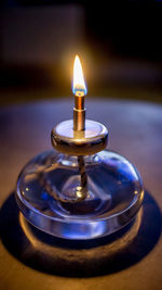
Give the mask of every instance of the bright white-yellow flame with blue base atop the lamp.
[{"label": "bright white-yellow flame with blue base atop the lamp", "polygon": [[76,55],[75,65],[73,65],[72,92],[73,92],[73,94],[76,94],[78,97],[83,97],[87,93],[87,89],[86,89],[84,77],[83,77],[83,71],[82,71],[81,62],[80,62],[80,59],[78,55]]}]

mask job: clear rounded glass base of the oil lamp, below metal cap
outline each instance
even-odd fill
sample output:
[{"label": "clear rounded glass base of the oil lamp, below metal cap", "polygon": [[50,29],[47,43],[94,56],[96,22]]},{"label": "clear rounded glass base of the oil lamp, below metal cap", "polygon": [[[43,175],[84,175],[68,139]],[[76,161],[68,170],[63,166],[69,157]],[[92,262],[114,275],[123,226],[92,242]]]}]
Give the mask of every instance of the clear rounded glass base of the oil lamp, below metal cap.
[{"label": "clear rounded glass base of the oil lamp, below metal cap", "polygon": [[64,239],[94,239],[129,224],[144,198],[136,168],[123,156],[103,150],[84,156],[87,194],[80,189],[78,157],[54,150],[32,159],[17,180],[16,200],[33,226]]}]

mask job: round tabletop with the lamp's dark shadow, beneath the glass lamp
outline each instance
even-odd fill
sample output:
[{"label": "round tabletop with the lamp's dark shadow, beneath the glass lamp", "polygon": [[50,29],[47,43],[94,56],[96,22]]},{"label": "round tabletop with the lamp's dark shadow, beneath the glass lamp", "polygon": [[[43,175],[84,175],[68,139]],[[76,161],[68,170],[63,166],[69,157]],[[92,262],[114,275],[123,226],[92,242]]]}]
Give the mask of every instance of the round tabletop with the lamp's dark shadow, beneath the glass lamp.
[{"label": "round tabletop with the lamp's dark shadow, beneath the glass lamp", "polygon": [[28,225],[14,200],[25,163],[51,149],[52,127],[72,115],[72,98],[0,110],[0,288],[161,289],[162,106],[91,99],[87,118],[109,129],[109,149],[139,171],[146,189],[136,220],[111,237],[68,242]]}]

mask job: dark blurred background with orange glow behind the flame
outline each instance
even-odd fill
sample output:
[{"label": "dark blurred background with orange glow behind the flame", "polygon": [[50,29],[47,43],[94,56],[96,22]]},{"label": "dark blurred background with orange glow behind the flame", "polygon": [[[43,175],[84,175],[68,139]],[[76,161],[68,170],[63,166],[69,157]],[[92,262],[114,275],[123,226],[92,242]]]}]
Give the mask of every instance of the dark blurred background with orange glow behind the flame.
[{"label": "dark blurred background with orange glow behind the flame", "polygon": [[0,105],[71,96],[75,55],[89,96],[162,102],[162,1],[4,0]]}]

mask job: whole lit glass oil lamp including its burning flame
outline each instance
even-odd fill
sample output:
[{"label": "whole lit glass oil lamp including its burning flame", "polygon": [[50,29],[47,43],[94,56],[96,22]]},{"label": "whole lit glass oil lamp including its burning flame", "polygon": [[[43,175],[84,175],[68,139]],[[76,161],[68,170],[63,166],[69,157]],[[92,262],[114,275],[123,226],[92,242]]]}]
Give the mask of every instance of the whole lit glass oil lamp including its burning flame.
[{"label": "whole lit glass oil lamp including its burning flame", "polygon": [[108,151],[107,128],[85,119],[87,92],[79,56],[73,66],[73,119],[57,124],[53,150],[33,157],[21,172],[16,200],[33,226],[55,237],[85,240],[129,224],[143,199],[137,169]]}]

